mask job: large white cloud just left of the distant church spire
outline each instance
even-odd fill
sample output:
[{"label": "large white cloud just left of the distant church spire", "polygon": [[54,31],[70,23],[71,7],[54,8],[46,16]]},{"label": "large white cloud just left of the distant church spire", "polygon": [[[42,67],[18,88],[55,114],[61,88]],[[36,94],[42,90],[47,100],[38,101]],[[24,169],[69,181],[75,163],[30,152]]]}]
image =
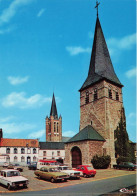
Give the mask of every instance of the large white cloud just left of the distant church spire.
[{"label": "large white cloud just left of the distant church spire", "polygon": [[6,108],[17,107],[20,109],[26,109],[40,107],[49,102],[51,102],[51,97],[44,97],[40,94],[26,97],[25,92],[12,92],[2,99],[2,106]]}]

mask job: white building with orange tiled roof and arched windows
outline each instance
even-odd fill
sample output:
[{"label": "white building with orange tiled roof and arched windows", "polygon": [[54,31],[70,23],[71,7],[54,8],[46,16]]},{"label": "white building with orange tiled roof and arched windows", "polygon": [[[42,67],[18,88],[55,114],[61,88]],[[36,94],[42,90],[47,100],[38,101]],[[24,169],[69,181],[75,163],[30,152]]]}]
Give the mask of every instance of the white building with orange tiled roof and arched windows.
[{"label": "white building with orange tiled roof and arched windows", "polygon": [[0,154],[6,155],[0,159],[0,165],[3,165],[3,162],[27,165],[38,161],[39,141],[37,139],[7,139],[2,138],[2,133],[0,135]]}]

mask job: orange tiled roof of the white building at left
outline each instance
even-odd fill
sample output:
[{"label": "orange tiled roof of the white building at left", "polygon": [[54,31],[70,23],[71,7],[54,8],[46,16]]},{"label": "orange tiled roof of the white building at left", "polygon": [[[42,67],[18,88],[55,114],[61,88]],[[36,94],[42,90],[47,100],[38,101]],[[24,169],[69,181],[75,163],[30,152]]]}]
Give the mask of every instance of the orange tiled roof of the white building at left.
[{"label": "orange tiled roof of the white building at left", "polygon": [[39,147],[39,141],[37,139],[8,139],[1,138],[1,147]]}]

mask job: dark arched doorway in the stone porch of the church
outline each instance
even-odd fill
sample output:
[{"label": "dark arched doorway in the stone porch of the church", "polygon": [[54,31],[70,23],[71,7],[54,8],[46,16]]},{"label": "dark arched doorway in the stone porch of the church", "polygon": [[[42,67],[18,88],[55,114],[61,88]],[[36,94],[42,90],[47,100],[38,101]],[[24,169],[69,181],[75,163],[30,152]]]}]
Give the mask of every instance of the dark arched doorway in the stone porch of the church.
[{"label": "dark arched doorway in the stone porch of the church", "polygon": [[72,167],[76,168],[78,165],[82,164],[81,150],[75,146],[71,150],[72,155]]}]

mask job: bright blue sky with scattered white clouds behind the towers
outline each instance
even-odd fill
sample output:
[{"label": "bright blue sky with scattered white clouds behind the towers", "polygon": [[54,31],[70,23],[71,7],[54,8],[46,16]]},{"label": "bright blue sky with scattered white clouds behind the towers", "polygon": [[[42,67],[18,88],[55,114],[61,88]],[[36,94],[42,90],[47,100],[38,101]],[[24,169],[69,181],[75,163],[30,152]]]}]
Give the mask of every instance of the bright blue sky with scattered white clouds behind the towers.
[{"label": "bright blue sky with scattered white clouds behind the towers", "polygon": [[[136,141],[136,1],[100,0],[99,19],[124,85],[129,139]],[[53,92],[63,136],[79,131],[96,0],[0,0],[0,128],[4,138],[45,141]]]}]

